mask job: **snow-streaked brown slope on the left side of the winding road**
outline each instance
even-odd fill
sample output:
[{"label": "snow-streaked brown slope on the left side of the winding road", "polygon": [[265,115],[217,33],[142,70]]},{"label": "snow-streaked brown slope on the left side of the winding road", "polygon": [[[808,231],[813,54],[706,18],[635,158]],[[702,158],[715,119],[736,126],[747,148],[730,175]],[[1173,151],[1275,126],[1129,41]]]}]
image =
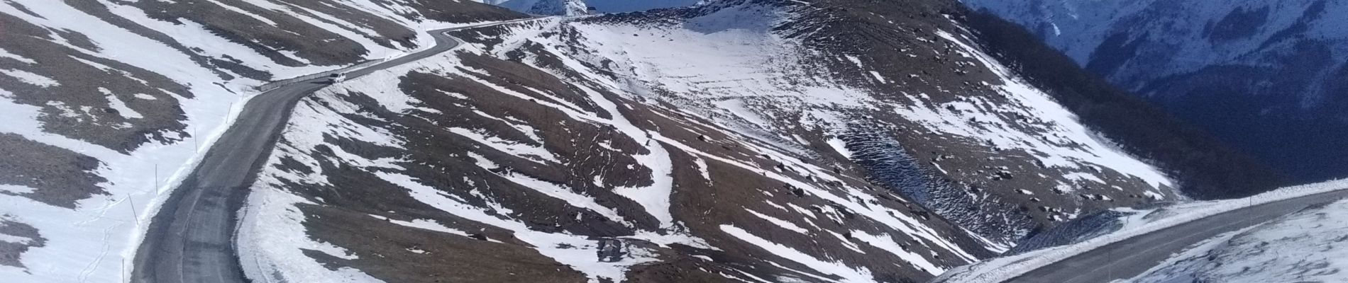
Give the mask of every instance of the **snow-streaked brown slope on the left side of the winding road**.
[{"label": "snow-streaked brown slope on the left side of the winding road", "polygon": [[520,16],[411,0],[0,3],[0,276],[123,280],[155,204],[266,83]]}]

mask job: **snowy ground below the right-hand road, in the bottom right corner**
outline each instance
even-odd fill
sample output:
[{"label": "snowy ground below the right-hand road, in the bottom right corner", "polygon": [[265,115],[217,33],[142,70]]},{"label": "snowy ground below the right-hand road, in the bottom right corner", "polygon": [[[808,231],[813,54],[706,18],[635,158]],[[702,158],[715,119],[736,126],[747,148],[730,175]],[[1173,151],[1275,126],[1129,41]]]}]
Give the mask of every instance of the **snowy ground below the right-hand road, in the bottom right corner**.
[{"label": "snowy ground below the right-hand road, in the bottom right corner", "polygon": [[1344,231],[1340,200],[1213,237],[1128,282],[1348,282]]}]

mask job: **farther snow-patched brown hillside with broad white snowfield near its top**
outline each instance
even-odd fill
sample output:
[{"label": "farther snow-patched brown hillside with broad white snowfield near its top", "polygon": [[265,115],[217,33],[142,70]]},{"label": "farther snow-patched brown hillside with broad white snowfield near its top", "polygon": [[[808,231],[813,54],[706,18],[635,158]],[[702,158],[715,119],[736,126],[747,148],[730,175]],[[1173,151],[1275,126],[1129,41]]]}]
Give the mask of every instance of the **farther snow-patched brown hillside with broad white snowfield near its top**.
[{"label": "farther snow-patched brown hillside with broad white snowfield near its top", "polygon": [[[921,38],[902,28],[926,25],[940,31],[930,35],[940,42],[910,46],[857,38],[874,44],[857,48],[837,38],[860,34],[818,19],[860,15],[798,9],[785,19],[741,21],[736,19],[748,16],[713,5],[694,9],[706,15],[682,24],[655,27],[650,25],[661,19],[597,19],[635,27],[599,25],[605,32],[586,32],[596,25],[566,25],[562,35],[577,36],[554,44],[589,47],[569,56],[603,66],[599,72],[624,83],[642,82],[636,91],[648,93],[642,97],[721,119],[787,149],[814,150],[801,152],[805,156],[848,158],[878,185],[998,241],[1099,201],[1135,203],[1170,193],[1170,181],[1158,170],[1113,152],[968,39],[941,31],[937,24],[958,32],[948,20],[899,24],[874,16],[882,25],[872,28],[888,32],[882,39]],[[938,59],[929,63],[933,58]],[[1006,83],[983,86],[977,79]],[[1095,185],[1107,189],[1091,189]],[[1004,213],[988,213],[995,211]]]}]

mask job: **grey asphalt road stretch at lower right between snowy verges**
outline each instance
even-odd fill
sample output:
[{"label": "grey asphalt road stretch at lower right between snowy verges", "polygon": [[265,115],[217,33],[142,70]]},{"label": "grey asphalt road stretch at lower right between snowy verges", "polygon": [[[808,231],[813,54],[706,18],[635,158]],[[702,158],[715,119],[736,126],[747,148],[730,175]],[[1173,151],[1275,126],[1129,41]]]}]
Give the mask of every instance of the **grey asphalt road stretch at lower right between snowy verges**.
[{"label": "grey asphalt road stretch at lower right between snowy verges", "polygon": [[1306,207],[1348,197],[1348,190],[1312,194],[1242,208],[1157,232],[1130,237],[1054,264],[1026,272],[1012,283],[1103,283],[1134,278],[1184,251],[1220,233],[1260,224]]}]

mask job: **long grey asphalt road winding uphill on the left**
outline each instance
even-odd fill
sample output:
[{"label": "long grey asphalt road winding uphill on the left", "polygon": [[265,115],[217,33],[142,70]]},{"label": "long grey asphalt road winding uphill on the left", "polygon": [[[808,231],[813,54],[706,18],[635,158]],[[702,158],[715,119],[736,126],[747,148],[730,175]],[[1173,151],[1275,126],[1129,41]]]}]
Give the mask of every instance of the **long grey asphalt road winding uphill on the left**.
[{"label": "long grey asphalt road winding uphill on the left", "polygon": [[[346,72],[367,75],[458,47],[446,32],[510,20],[433,31],[435,46],[421,52]],[[136,251],[132,282],[245,282],[233,248],[236,215],[248,196],[255,173],[267,161],[301,98],[328,86],[326,78],[301,80],[259,94],[239,119],[173,192]]]}]

